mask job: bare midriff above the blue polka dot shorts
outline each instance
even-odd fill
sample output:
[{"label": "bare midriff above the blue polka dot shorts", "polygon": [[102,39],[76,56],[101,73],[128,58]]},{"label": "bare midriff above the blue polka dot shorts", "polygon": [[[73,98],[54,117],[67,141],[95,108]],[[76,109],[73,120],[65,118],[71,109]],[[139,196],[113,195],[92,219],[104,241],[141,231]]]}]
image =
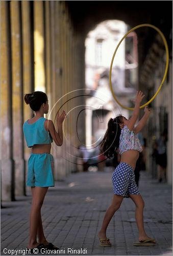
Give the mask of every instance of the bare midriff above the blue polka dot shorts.
[{"label": "bare midriff above the blue polka dot shorts", "polygon": [[122,153],[120,162],[128,163],[135,169],[136,161],[138,160],[138,157],[139,157],[139,151],[128,150]]}]

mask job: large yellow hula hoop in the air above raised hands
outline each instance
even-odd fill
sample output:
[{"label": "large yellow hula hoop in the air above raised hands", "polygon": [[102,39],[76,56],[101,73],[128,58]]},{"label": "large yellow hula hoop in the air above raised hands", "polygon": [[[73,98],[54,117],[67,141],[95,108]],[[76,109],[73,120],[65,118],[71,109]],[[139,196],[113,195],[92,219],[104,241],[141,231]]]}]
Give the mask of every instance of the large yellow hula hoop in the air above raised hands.
[{"label": "large yellow hula hoop in the air above raised hands", "polygon": [[160,89],[162,88],[162,85],[164,83],[164,80],[166,78],[166,74],[167,74],[167,70],[168,70],[168,63],[169,63],[169,51],[168,51],[168,46],[167,46],[167,42],[166,42],[166,39],[165,39],[165,36],[163,35],[163,33],[160,31],[160,29],[158,29],[157,27],[155,27],[154,25],[151,25],[151,24],[141,24],[141,25],[138,25],[134,28],[132,28],[131,30],[129,30],[123,37],[122,39],[119,41],[115,51],[114,51],[114,54],[113,54],[113,57],[112,57],[112,61],[111,61],[111,66],[110,66],[110,71],[109,71],[109,84],[110,84],[110,89],[111,89],[111,93],[112,93],[112,96],[114,97],[114,99],[116,100],[116,102],[124,109],[127,109],[127,110],[134,110],[134,108],[128,108],[127,106],[123,106],[118,100],[117,98],[115,97],[115,94],[113,92],[113,89],[112,89],[112,81],[111,81],[111,74],[112,74],[112,65],[113,65],[113,60],[114,60],[114,57],[115,57],[115,54],[118,50],[118,47],[119,45],[121,44],[122,40],[125,39],[127,37],[127,35],[134,31],[135,29],[138,29],[138,28],[141,28],[141,27],[151,27],[153,29],[155,29],[159,34],[160,36],[162,37],[163,39],[163,42],[164,42],[164,46],[165,46],[165,50],[166,50],[166,65],[165,65],[165,72],[164,72],[164,76],[163,76],[163,79],[161,81],[161,84],[157,90],[157,92],[155,93],[155,95],[149,100],[147,101],[145,104],[141,105],[139,108],[142,109],[144,108],[144,106],[150,104],[155,98],[156,96],[158,95],[158,93],[160,92]]}]

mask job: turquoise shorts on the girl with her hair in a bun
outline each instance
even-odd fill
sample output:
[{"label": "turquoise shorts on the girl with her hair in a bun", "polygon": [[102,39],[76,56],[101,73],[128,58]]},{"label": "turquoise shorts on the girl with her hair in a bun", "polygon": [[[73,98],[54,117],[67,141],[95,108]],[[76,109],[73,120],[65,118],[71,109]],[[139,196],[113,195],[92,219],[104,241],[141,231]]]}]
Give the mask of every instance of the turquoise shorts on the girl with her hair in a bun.
[{"label": "turquoise shorts on the girl with her hair in a bun", "polygon": [[54,157],[51,154],[31,154],[28,160],[29,187],[54,186]]}]

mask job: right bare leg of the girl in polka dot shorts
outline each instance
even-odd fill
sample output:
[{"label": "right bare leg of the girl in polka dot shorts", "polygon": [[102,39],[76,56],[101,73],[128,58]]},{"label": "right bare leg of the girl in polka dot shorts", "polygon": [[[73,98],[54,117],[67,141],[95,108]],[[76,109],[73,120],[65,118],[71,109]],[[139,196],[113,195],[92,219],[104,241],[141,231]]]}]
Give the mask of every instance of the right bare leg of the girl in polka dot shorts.
[{"label": "right bare leg of the girl in polka dot shorts", "polygon": [[133,202],[136,205],[135,210],[135,219],[137,223],[137,227],[139,230],[139,241],[144,241],[147,239],[151,239],[147,236],[144,225],[143,225],[143,208],[144,208],[144,201],[141,197],[141,195],[130,195],[130,198],[133,200]]}]

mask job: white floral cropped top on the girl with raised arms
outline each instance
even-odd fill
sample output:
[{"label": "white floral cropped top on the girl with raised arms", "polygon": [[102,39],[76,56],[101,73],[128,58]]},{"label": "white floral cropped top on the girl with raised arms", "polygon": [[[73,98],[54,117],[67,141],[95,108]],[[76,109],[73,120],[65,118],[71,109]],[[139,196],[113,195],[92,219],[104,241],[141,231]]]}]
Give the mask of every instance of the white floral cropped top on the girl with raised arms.
[{"label": "white floral cropped top on the girl with raised arms", "polygon": [[130,131],[128,126],[125,125],[119,137],[119,154],[122,155],[123,152],[128,150],[137,150],[142,152],[142,146],[140,141],[134,131]]}]

